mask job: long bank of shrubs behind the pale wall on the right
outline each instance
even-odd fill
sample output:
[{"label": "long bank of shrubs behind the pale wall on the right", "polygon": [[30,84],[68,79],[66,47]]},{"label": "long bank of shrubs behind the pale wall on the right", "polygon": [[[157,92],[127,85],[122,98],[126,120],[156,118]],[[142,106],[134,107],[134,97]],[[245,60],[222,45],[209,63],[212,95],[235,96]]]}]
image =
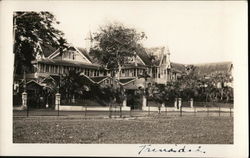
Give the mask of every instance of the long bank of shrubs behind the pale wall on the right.
[{"label": "long bank of shrubs behind the pale wall on the right", "polygon": [[[195,73],[193,65],[186,67],[186,75],[180,79],[167,83],[167,85],[154,85],[153,98],[159,103],[182,98],[189,101],[232,102],[233,88],[224,85],[231,82],[232,78],[227,73],[217,73],[211,76],[199,76]],[[221,86],[218,86],[221,84]]]}]

